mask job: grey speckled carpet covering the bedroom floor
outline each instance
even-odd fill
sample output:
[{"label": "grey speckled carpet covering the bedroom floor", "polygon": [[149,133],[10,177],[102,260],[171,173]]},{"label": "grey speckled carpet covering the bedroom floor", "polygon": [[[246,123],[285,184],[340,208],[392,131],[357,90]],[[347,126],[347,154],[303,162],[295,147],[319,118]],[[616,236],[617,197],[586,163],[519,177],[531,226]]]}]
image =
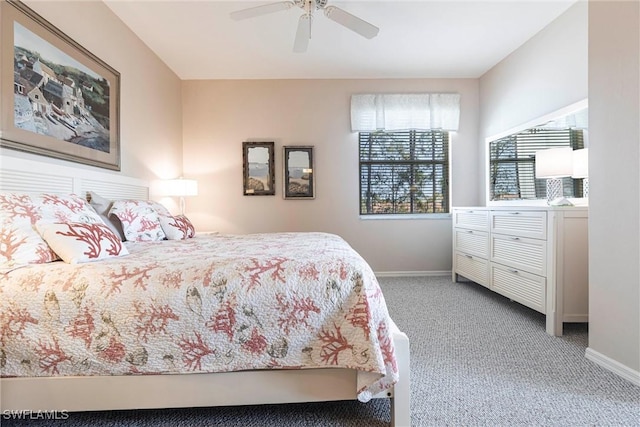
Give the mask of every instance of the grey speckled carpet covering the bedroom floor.
[{"label": "grey speckled carpet covering the bedroom floor", "polygon": [[[638,426],[640,387],[584,357],[586,324],[545,333],[542,314],[450,277],[381,278],[411,343],[413,426]],[[349,426],[389,423],[389,402],[72,413],[2,426]]]}]

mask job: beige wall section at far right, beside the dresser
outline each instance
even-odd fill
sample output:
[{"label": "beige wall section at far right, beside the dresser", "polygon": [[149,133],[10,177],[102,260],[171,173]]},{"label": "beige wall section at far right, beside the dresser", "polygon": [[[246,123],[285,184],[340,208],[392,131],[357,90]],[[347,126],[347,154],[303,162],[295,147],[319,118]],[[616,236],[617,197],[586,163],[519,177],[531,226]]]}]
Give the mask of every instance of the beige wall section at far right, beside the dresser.
[{"label": "beige wall section at far right, beside the dresser", "polygon": [[640,385],[639,80],[639,3],[589,2],[587,354]]}]

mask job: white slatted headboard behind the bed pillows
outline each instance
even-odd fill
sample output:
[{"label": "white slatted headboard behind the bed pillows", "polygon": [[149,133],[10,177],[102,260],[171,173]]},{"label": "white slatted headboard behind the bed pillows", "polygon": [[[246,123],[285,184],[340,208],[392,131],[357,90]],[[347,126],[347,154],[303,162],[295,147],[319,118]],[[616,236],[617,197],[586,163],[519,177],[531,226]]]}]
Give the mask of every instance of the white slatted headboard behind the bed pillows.
[{"label": "white slatted headboard behind the bed pillows", "polygon": [[16,193],[75,193],[85,197],[94,191],[111,199],[149,198],[149,182],[107,173],[3,156],[0,191]]}]

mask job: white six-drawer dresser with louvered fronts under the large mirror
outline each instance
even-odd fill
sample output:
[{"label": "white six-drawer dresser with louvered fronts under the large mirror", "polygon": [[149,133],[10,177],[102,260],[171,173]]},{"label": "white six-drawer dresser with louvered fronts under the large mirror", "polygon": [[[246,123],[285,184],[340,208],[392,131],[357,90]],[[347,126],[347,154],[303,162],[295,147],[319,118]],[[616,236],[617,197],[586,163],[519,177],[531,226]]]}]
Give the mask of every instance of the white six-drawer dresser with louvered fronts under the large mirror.
[{"label": "white six-drawer dresser with louvered fronts under the large mirror", "polygon": [[588,208],[453,209],[453,280],[479,283],[547,316],[589,320]]}]

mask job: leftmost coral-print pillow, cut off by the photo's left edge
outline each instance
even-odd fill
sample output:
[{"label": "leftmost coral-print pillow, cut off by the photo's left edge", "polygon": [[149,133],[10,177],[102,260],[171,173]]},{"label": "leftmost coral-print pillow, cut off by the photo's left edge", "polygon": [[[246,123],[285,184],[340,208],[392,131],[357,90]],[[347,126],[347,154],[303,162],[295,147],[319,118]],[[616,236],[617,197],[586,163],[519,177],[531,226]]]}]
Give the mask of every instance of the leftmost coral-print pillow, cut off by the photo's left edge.
[{"label": "leftmost coral-print pillow, cut off by the photo's left edge", "polygon": [[35,230],[40,210],[25,194],[0,194],[0,268],[55,261],[56,254]]}]

